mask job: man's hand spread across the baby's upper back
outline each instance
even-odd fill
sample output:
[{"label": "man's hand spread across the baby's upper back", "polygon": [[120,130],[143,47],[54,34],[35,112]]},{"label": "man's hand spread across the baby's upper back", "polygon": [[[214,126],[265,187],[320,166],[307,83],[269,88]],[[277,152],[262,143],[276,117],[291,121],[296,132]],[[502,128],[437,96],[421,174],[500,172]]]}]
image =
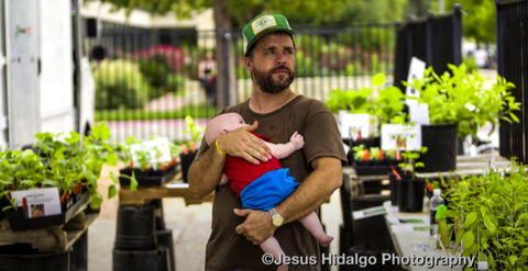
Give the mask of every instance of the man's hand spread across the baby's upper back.
[{"label": "man's hand spread across the baby's upper back", "polygon": [[272,159],[270,147],[251,132],[258,127],[258,123],[242,126],[235,131],[218,137],[218,147],[230,156],[244,158],[246,161],[258,165],[260,161]]}]

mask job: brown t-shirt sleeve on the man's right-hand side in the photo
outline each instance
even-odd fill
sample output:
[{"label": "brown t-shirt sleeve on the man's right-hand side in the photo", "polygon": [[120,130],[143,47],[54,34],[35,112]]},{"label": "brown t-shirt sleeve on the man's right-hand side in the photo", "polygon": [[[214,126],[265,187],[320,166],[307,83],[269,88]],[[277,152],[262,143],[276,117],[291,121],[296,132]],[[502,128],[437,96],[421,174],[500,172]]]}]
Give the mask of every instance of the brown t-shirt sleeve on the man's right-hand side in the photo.
[{"label": "brown t-shirt sleeve on the man's right-hand side in the photo", "polygon": [[319,157],[334,157],[345,166],[348,160],[338,122],[328,106],[314,100],[308,106],[305,122],[302,151],[308,166],[311,167],[311,161]]}]

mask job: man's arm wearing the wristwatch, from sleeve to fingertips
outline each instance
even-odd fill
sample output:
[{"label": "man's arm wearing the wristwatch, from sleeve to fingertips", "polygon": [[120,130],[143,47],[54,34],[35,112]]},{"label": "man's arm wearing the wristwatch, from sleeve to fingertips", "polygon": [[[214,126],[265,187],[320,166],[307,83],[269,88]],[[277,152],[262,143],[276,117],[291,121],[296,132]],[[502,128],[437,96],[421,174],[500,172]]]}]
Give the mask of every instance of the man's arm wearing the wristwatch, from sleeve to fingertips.
[{"label": "man's arm wearing the wristwatch, from sleeve to fingertips", "polygon": [[[284,223],[295,222],[324,203],[341,187],[341,160],[333,157],[320,157],[312,160],[314,171],[286,200],[275,210],[284,217]],[[260,245],[275,232],[267,212],[254,210],[235,210],[239,216],[248,216],[237,227],[254,245]]]}]

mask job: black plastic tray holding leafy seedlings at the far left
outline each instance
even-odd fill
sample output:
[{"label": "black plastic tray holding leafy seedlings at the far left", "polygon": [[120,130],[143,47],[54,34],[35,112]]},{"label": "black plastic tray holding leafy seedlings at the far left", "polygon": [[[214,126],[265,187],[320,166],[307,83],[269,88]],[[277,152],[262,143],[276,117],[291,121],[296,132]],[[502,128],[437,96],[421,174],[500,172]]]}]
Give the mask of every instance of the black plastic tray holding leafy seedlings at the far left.
[{"label": "black plastic tray holding leafy seedlings at the far left", "polygon": [[[68,223],[69,219],[74,217],[74,215],[90,201],[90,193],[88,191],[82,193],[80,200],[74,203],[66,212],[63,212],[57,215],[47,215],[43,217],[33,217],[33,218],[25,218],[24,211],[22,208],[9,210],[7,212],[9,226],[12,230],[21,230],[21,229],[32,229],[32,228],[42,228],[55,225],[63,225]],[[63,205],[64,207],[64,205]]]}]

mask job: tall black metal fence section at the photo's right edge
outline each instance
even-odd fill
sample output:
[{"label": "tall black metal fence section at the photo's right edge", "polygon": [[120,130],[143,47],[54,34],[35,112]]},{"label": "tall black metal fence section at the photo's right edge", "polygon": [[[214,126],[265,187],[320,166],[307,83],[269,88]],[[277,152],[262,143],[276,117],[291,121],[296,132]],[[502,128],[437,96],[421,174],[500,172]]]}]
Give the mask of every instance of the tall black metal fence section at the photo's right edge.
[{"label": "tall black metal fence section at the photo's right edge", "polygon": [[501,155],[517,157],[519,161],[528,161],[527,128],[528,112],[528,1],[496,0],[497,25],[497,71],[512,81],[516,88],[512,90],[516,101],[521,102],[521,111],[515,112],[519,124],[501,122]]}]

